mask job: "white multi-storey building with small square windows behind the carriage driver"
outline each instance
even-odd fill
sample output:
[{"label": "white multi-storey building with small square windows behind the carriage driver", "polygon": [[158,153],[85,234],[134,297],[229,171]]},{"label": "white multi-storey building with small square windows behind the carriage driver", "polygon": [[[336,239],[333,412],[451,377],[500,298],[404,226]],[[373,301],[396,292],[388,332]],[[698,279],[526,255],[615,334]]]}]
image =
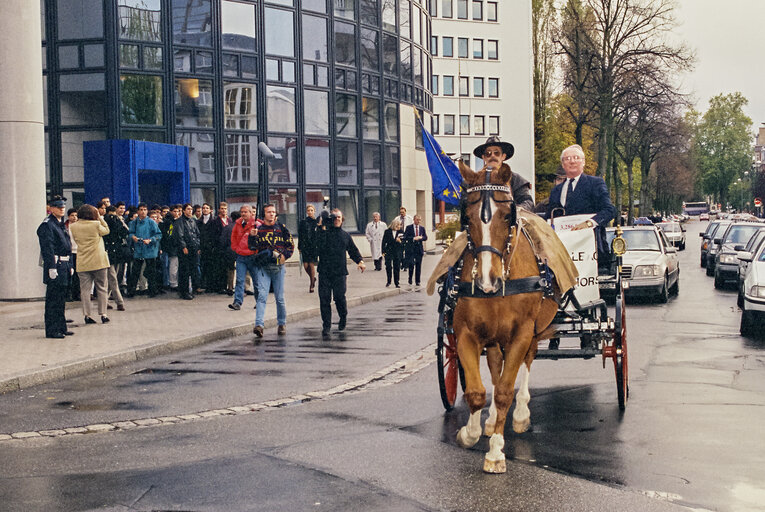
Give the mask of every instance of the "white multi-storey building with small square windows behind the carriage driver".
[{"label": "white multi-storey building with small square windows behind the carriage driver", "polygon": [[450,155],[480,169],[473,149],[491,135],[534,183],[530,0],[431,0],[432,132]]}]

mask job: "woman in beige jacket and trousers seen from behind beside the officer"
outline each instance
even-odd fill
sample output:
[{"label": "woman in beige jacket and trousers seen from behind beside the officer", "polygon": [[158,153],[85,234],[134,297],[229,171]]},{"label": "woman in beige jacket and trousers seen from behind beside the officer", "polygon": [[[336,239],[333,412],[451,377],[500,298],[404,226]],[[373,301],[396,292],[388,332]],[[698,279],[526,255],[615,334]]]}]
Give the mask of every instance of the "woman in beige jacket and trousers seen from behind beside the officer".
[{"label": "woman in beige jacket and trousers seen from behind beside the officer", "polygon": [[109,234],[109,226],[98,214],[95,207],[84,204],[77,210],[78,221],[70,226],[72,237],[77,242],[77,275],[80,277],[80,298],[85,323],[96,323],[91,316],[90,290],[95,283],[98,298],[98,314],[101,322],[106,323],[107,279],[109,256],[104,248],[104,235]]}]

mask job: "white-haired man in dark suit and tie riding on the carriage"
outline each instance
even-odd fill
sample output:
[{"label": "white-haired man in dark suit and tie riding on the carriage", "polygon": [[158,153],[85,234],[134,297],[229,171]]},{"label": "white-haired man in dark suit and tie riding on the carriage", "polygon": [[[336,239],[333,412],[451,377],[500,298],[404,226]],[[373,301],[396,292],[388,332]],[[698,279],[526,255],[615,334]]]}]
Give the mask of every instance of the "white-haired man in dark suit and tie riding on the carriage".
[{"label": "white-haired man in dark suit and tie riding on the carriage", "polygon": [[[561,165],[566,171],[566,181],[553,188],[547,204],[547,218],[554,210],[562,209],[565,215],[593,214],[594,217],[573,229],[595,228],[598,243],[598,266],[610,264],[611,251],[606,243],[606,226],[616,216],[603,178],[584,174],[584,151],[578,144],[569,146],[561,153]],[[559,212],[555,212],[559,215]]]}]

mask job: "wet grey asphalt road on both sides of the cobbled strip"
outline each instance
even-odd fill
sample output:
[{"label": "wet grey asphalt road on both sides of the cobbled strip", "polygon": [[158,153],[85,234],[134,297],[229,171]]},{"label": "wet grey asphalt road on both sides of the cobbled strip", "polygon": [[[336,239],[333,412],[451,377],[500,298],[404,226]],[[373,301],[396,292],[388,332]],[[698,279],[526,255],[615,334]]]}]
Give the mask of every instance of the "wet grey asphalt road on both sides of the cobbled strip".
[{"label": "wet grey asphalt road on both sides of the cobbled strip", "polygon": [[[252,414],[0,442],[0,510],[762,510],[765,342],[739,336],[735,292],[699,267],[702,226],[688,226],[679,296],[628,303],[626,412],[610,363],[535,362],[533,430],[507,433],[506,475],[481,473],[485,439],[456,447],[468,411],[443,412],[431,364]],[[428,346],[434,326],[435,299],[408,293],[354,309],[329,341],[314,319],[284,340],[235,338],[0,396],[0,432],[325,390]]]}]

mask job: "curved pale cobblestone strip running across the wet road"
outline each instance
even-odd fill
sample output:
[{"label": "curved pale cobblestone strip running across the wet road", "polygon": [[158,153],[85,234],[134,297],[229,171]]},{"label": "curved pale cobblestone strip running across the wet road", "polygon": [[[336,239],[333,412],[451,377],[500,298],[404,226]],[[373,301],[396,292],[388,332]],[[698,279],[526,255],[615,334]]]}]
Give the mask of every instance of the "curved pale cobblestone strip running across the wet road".
[{"label": "curved pale cobblestone strip running across the wet road", "polygon": [[410,354],[409,356],[396,361],[395,363],[378,370],[371,375],[354,379],[352,381],[338,384],[330,389],[323,391],[311,391],[299,395],[267,400],[261,403],[236,405],[225,409],[210,409],[207,411],[197,411],[189,414],[179,414],[175,416],[157,416],[156,418],[139,418],[133,420],[121,420],[113,423],[97,423],[92,425],[83,425],[78,427],[66,427],[60,429],[48,429],[30,432],[13,432],[9,434],[0,434],[0,442],[23,440],[41,437],[64,437],[83,434],[98,434],[102,432],[116,432],[122,430],[133,430],[137,428],[149,428],[160,425],[172,425],[177,423],[188,423],[207,418],[218,418],[220,416],[234,416],[241,414],[252,414],[258,411],[267,411],[279,407],[299,405],[317,400],[326,400],[340,395],[349,395],[361,393],[370,389],[381,388],[398,384],[407,377],[414,375],[426,366],[436,361],[436,344],[433,343],[427,347]]}]

